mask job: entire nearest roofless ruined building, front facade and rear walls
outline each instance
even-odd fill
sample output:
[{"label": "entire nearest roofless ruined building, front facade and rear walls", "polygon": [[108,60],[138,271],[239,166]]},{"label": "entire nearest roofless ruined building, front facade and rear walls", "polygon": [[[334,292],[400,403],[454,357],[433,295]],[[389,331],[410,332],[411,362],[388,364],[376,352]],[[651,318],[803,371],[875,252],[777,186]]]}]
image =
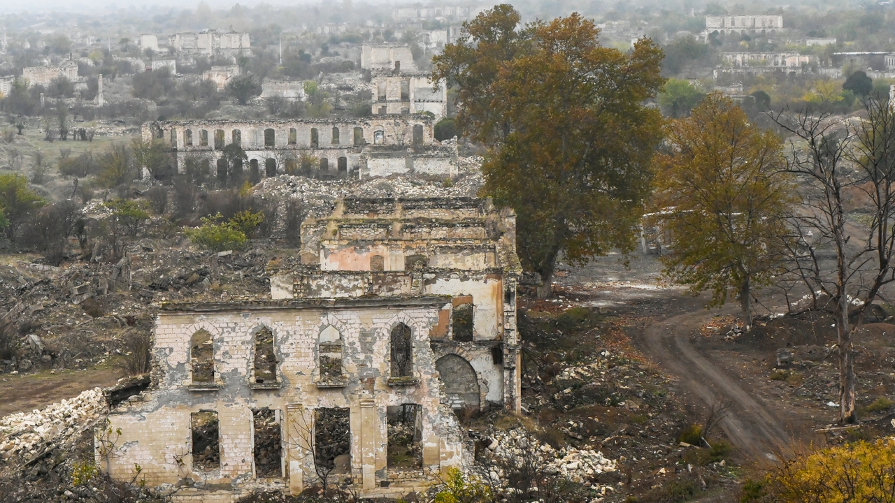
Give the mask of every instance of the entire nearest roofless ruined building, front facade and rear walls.
[{"label": "entire nearest roofless ruined building, front facade and rear walls", "polygon": [[[177,501],[422,490],[469,462],[454,411],[519,407],[515,215],[490,200],[339,201],[271,300],[163,304],[153,383],[96,440]],[[452,411],[453,409],[453,411]]]}]

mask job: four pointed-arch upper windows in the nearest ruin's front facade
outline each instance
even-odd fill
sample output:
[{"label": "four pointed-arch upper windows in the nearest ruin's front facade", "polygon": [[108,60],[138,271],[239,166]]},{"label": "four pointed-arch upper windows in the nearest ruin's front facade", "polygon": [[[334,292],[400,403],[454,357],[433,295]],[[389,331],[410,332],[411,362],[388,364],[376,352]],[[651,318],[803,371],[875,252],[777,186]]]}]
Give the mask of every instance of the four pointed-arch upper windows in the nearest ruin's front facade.
[{"label": "four pointed-arch upper windows in the nearest ruin's front facade", "polygon": [[[274,351],[274,334],[268,327],[254,333],[254,358],[251,383],[259,385],[277,383],[277,354]],[[404,323],[392,328],[389,337],[390,378],[413,376],[413,330]],[[320,330],[318,336],[320,380],[334,381],[345,377],[343,365],[344,343],[341,332],[333,326]],[[190,340],[190,367],[193,385],[215,383],[214,341],[207,330],[198,330]]]}]

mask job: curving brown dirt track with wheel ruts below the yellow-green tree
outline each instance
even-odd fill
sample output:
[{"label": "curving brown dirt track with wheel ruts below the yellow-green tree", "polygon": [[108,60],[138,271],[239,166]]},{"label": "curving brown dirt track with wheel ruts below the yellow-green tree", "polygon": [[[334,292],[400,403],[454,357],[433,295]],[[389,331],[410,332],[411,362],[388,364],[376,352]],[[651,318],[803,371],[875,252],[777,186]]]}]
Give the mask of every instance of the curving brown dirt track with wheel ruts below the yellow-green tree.
[{"label": "curving brown dirt track with wheel ruts below the yellow-green tree", "polygon": [[747,389],[690,343],[689,336],[709,311],[672,316],[646,328],[645,349],[652,360],[678,377],[683,388],[698,397],[706,407],[719,398],[728,399],[731,411],[720,422],[728,439],[754,461],[774,459],[774,453],[786,452],[792,439],[780,419]]}]

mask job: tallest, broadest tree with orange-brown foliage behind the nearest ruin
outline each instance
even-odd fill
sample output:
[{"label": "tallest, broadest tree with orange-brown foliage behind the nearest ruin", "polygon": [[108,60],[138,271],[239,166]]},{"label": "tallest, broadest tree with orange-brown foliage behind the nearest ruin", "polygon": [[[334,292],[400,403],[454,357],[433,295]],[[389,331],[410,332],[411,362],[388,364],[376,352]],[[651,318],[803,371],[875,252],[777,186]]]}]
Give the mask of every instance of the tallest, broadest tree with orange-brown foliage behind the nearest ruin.
[{"label": "tallest, broadest tree with orange-brown foliage behind the nearest ruin", "polygon": [[488,147],[484,192],[516,209],[519,256],[545,296],[560,252],[584,261],[634,247],[661,134],[644,100],[663,83],[662,54],[647,39],[628,54],[601,47],[576,13],[519,20],[501,4],[466,23],[432,77],[456,87],[457,125]]}]

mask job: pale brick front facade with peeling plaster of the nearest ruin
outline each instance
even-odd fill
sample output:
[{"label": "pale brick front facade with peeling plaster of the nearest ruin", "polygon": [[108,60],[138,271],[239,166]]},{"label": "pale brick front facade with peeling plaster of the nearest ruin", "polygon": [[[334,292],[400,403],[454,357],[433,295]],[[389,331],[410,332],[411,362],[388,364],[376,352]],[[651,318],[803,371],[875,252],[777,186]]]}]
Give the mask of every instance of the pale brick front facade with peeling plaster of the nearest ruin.
[{"label": "pale brick front facade with peeling plaster of the nearest ruin", "polygon": [[[413,403],[422,405],[423,410],[425,480],[408,483],[419,487],[447,466],[459,465],[464,456],[456,417],[441,404],[446,398],[429,344],[430,335],[439,336],[444,329],[439,321],[445,318],[442,311],[449,313],[450,305],[444,297],[426,297],[393,298],[388,303],[345,302],[340,308],[234,306],[224,311],[163,311],[153,346],[156,388],[111,414],[110,426],[120,428],[122,436],[114,456],[98,456],[98,462],[122,480],[129,480],[134,465],[141,465],[141,478],[152,486],[184,479],[200,485],[250,484],[255,482],[251,409],[269,407],[285,414],[286,479],[293,490],[301,490],[304,483],[313,482],[314,475],[310,452],[302,448],[308,445],[306,431],[295,426],[295,414],[312,417],[317,407],[348,407],[351,477],[365,494],[374,495],[378,481],[394,475],[387,470],[386,408]],[[411,386],[388,383],[389,334],[398,323],[413,331],[413,377],[418,382]],[[318,386],[317,337],[328,326],[337,328],[343,337],[344,387]],[[274,333],[278,388],[250,386],[252,337],[261,327]],[[214,341],[217,388],[192,391],[189,345],[192,334],[200,329],[208,331]],[[190,414],[206,410],[218,413],[220,469],[196,473]]]}]

